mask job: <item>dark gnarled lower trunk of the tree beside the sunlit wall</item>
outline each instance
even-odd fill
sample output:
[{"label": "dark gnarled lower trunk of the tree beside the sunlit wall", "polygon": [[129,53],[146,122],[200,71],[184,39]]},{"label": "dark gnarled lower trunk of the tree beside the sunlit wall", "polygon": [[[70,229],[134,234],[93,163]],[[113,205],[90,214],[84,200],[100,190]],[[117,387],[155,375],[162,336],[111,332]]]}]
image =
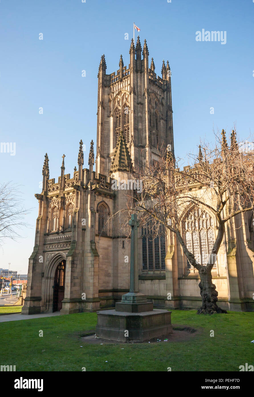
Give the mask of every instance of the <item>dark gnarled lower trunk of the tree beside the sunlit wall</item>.
[{"label": "dark gnarled lower trunk of the tree beside the sunlit wall", "polygon": [[226,310],[217,306],[218,292],[216,286],[212,283],[212,273],[207,266],[201,266],[199,269],[200,276],[200,294],[202,297],[202,306],[197,311],[197,314],[214,314],[214,313],[227,313]]}]

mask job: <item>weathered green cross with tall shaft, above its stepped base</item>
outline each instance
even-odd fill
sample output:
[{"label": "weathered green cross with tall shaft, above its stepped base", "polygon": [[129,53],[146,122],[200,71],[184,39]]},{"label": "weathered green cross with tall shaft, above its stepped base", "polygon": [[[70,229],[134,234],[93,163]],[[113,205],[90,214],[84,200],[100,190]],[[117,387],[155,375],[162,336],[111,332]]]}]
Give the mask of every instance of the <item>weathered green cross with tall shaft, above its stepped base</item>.
[{"label": "weathered green cross with tall shaft, above its stepped base", "polygon": [[130,292],[138,292],[138,216],[132,214],[129,221],[132,227],[130,242]]}]

